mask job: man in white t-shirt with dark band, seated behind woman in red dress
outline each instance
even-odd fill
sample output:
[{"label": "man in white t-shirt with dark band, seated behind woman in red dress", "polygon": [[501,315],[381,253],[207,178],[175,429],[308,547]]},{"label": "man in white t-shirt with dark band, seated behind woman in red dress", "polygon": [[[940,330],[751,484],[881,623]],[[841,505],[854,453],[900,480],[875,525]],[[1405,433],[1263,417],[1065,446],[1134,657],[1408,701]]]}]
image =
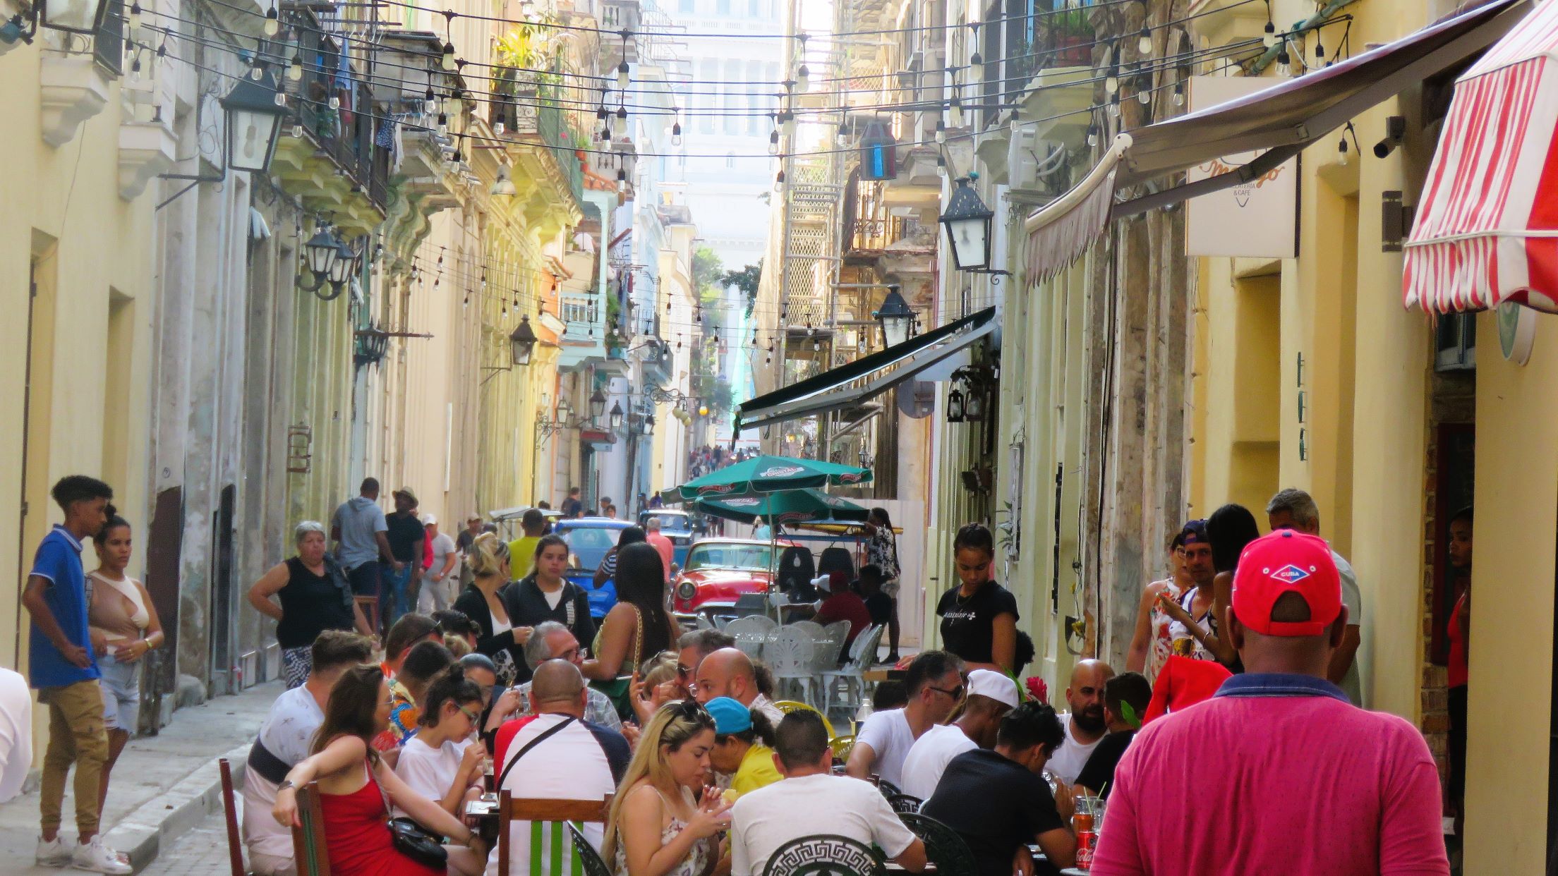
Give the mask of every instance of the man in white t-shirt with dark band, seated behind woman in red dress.
[{"label": "man in white t-shirt with dark band, seated behind woman in red dress", "polygon": [[271,817],[276,786],[308,756],[313,731],[324,723],[330,687],[343,672],[372,659],[372,641],[344,630],[326,630],[310,648],[313,669],[301,687],[271,703],[243,767],[243,843],[256,876],[293,876],[291,831]]}]

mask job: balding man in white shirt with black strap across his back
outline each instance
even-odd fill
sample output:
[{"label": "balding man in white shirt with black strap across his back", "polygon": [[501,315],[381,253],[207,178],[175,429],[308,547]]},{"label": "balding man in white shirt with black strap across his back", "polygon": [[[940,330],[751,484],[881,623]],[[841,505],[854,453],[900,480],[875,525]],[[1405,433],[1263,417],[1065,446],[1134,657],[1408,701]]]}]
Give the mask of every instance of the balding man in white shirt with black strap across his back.
[{"label": "balding man in white shirt with black strap across his back", "polygon": [[[530,705],[536,714],[505,722],[497,731],[492,764],[499,789],[556,800],[605,800],[615,793],[633,753],[620,733],[584,720],[589,695],[580,669],[566,659],[538,666],[530,676]],[[548,731],[552,736],[542,739]],[[583,832],[600,846],[601,825],[586,823]],[[491,870],[497,870],[497,859]],[[528,821],[509,828],[509,873],[530,876]]]}]

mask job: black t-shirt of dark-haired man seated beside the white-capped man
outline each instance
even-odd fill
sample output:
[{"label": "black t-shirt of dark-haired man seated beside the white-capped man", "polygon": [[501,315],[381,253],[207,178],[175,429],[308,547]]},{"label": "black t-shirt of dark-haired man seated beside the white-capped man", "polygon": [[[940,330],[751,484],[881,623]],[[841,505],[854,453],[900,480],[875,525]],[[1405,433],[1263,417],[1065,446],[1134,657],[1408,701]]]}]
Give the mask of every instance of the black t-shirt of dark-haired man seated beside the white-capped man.
[{"label": "black t-shirt of dark-haired man seated beside the white-capped man", "polygon": [[[919,811],[963,837],[980,876],[1011,876],[1011,856],[1019,845],[1066,826],[1049,782],[983,748],[949,761],[936,792]],[[1045,873],[1042,862],[1038,873]]]}]

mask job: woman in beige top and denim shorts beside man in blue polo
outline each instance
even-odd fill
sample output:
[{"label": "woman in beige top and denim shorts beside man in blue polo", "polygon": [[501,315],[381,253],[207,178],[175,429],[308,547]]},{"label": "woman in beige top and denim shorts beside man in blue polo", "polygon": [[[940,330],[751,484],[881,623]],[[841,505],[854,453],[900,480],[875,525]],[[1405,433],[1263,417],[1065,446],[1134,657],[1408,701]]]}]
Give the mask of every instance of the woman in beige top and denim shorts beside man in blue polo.
[{"label": "woman in beige top and denim shorts beside man in blue polo", "polygon": [[162,645],[162,622],[145,585],[125,574],[129,566],[129,522],[111,516],[92,536],[98,567],[87,574],[92,600],[87,608],[92,653],[103,672],[103,723],[108,728],[108,762],[98,807],[108,800],[108,776],[140,723],[142,658]]}]

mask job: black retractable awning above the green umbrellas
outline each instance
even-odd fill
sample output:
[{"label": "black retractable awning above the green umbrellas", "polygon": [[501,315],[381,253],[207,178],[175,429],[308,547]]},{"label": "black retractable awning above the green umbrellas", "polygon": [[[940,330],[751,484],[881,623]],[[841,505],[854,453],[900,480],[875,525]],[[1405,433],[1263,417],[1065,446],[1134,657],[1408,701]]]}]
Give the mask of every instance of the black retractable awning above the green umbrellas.
[{"label": "black retractable awning above the green umbrellas", "polygon": [[947,323],[897,346],[743,402],[735,430],[857,405],[908,380],[996,330],[996,309]]}]

